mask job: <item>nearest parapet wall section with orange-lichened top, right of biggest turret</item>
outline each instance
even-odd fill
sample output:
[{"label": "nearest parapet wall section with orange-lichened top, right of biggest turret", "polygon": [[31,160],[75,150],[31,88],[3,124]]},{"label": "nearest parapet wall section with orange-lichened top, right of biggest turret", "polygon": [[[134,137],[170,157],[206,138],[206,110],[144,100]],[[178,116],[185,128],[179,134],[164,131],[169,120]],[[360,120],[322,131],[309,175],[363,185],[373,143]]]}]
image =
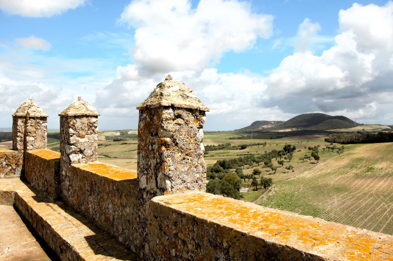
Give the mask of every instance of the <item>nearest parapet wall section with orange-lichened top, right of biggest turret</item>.
[{"label": "nearest parapet wall section with orange-lichened top, right of biggest turret", "polygon": [[158,196],[149,260],[390,260],[393,236],[190,191]]}]

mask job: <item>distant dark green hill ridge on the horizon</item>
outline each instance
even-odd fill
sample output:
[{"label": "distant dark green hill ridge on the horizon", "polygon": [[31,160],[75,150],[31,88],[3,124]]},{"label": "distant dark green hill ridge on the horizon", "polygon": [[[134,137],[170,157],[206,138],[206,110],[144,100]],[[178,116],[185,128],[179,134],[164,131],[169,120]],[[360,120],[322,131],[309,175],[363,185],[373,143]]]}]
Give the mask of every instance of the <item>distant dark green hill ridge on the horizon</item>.
[{"label": "distant dark green hill ridge on the horizon", "polygon": [[[264,130],[261,128],[265,123],[270,123],[266,130],[331,130],[355,127],[358,124],[345,116],[331,116],[323,113],[305,113],[295,116],[287,121],[254,121],[242,131]],[[267,124],[266,124],[267,125]]]}]

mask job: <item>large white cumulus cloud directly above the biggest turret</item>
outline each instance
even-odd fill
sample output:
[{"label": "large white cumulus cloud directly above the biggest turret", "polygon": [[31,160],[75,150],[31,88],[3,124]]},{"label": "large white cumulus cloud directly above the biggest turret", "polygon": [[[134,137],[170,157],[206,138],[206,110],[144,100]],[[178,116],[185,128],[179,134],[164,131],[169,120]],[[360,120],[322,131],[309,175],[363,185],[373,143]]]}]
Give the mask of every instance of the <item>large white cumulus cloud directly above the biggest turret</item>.
[{"label": "large white cumulus cloud directly above the biggest turret", "polygon": [[133,60],[141,74],[202,71],[226,51],[252,48],[258,37],[272,34],[273,16],[256,14],[245,2],[136,0],[119,22],[136,28]]}]

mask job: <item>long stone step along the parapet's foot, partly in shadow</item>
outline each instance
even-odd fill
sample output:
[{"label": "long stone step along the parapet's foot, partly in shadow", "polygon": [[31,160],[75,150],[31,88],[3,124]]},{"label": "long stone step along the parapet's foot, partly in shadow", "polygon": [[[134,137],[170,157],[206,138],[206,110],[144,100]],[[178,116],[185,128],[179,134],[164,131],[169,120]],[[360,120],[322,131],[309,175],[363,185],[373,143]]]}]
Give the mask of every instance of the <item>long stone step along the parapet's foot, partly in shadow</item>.
[{"label": "long stone step along the parapet's foot, partly in shadow", "polygon": [[72,208],[20,179],[0,179],[0,191],[15,192],[14,206],[61,260],[142,260]]}]

